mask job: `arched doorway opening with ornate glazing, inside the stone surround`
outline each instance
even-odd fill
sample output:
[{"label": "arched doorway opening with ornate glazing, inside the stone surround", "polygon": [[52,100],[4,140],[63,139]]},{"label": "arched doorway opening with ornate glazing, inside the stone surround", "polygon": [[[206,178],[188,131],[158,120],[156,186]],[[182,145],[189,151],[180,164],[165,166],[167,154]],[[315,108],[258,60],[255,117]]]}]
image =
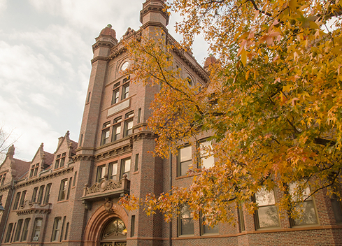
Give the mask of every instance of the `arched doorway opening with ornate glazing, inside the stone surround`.
[{"label": "arched doorway opening with ornate glazing, inside the stone surround", "polygon": [[127,229],[122,219],[114,217],[107,222],[101,234],[100,246],[126,246]]}]

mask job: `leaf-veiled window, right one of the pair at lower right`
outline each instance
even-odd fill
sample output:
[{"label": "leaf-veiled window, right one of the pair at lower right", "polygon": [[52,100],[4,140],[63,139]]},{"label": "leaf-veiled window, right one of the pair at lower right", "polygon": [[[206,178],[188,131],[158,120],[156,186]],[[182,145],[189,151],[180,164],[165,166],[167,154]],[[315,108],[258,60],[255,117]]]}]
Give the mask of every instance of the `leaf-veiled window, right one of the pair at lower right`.
[{"label": "leaf-veiled window, right one of the pair at lower right", "polygon": [[[292,201],[297,202],[299,198],[296,194],[297,183],[291,183],[289,185],[290,194],[292,196]],[[302,203],[298,203],[295,206],[295,209],[299,212],[299,217],[296,219],[290,219],[290,224],[292,226],[304,226],[308,224],[318,224],[318,219],[315,211],[315,205],[313,203],[312,196],[308,198],[311,191],[309,187],[306,187],[305,190],[302,191],[303,198],[306,198],[306,201]]]}]

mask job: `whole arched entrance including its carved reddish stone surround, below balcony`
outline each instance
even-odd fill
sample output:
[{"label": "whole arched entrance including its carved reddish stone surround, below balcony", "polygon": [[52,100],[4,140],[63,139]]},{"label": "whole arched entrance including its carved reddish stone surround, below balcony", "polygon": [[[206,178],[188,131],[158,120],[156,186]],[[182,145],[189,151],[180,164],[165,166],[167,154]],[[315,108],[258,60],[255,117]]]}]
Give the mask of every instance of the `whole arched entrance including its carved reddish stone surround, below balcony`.
[{"label": "whole arched entrance including its carved reddish stone surround, below balcony", "polygon": [[126,245],[126,236],[122,236],[127,234],[127,212],[115,203],[109,208],[106,205],[101,205],[88,220],[83,236],[84,246]]}]

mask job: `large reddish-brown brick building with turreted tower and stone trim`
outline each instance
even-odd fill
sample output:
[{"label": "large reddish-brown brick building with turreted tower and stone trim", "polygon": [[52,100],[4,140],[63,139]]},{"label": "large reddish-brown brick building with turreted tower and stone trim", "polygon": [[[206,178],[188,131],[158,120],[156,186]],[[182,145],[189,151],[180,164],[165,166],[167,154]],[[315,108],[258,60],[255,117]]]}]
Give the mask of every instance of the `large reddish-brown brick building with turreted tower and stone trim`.
[{"label": "large reddish-brown brick building with turreted tower and stone trim", "polygon": [[[122,39],[138,38],[163,29],[167,41],[169,16],[164,1],[147,0],[140,13],[141,28],[127,29]],[[78,143],[69,132],[51,154],[38,148],[30,162],[14,158],[10,147],[0,166],[1,245],[342,245],[341,203],[319,191],[304,204],[303,220],[280,217],[274,203],[281,195],[261,191],[255,215],[236,210],[236,225],[213,229],[194,221],[184,208],[166,223],[162,215],[147,217],[142,208],[127,212],[117,205],[122,194],[144,197],[186,187],[192,147],[178,157],[160,159],[155,136],[147,129],[150,103],[159,87],[130,83],[122,75],[129,57],[111,25],[92,46],[94,57]],[[206,70],[190,52],[171,51],[183,78],[205,86]],[[208,62],[213,62],[210,57]],[[208,65],[208,64],[206,64]],[[201,136],[199,144],[210,144]],[[213,157],[204,158],[213,165]],[[264,199],[266,198],[266,199]]]}]

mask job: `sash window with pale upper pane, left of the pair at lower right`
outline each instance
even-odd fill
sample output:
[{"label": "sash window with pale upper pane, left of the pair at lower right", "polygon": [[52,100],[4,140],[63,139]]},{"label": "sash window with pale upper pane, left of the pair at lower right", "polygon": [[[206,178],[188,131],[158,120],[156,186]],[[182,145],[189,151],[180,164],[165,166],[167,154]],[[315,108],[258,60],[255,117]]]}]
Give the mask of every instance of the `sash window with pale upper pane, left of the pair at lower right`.
[{"label": "sash window with pale upper pane, left of the pair at lower right", "polygon": [[265,188],[259,189],[255,194],[255,202],[257,203],[255,227],[257,229],[279,227],[279,216],[274,191],[268,191]]}]

